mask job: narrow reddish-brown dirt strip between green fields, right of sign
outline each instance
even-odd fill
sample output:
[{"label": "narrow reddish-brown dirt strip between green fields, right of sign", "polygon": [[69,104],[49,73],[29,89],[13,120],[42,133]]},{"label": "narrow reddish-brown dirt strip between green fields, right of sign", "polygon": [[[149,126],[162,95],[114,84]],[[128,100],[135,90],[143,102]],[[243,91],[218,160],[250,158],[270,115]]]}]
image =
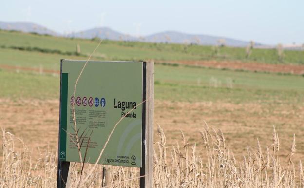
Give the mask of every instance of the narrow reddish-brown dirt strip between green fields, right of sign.
[{"label": "narrow reddish-brown dirt strip between green fields, right of sign", "polygon": [[241,61],[165,61],[168,63],[181,63],[213,68],[228,68],[238,70],[260,71],[260,72],[280,72],[291,74],[304,74],[304,65],[293,64],[267,64],[258,62],[244,63]]}]

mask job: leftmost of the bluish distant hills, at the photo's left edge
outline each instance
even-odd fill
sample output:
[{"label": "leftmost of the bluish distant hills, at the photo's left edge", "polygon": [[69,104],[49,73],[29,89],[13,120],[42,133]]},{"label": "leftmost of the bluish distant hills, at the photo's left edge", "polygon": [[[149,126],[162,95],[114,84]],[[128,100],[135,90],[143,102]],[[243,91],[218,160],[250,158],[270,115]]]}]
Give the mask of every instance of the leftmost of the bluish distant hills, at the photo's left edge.
[{"label": "leftmost of the bluish distant hills, at the photo's left edge", "polygon": [[42,25],[38,25],[36,23],[28,23],[28,22],[1,22],[0,21],[0,29],[3,30],[15,30],[15,31],[22,31],[25,33],[38,33],[41,35],[53,35],[59,36],[60,34],[52,31]]}]

